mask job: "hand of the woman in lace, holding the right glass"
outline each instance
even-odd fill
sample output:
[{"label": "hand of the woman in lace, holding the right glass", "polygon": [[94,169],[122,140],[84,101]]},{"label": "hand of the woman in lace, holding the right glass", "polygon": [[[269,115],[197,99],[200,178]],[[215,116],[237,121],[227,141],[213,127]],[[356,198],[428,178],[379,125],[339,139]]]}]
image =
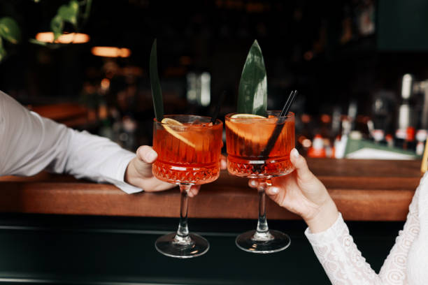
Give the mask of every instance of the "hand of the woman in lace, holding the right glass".
[{"label": "hand of the woman in lace, holding the right glass", "polygon": [[[290,175],[272,179],[272,186],[266,194],[281,207],[299,214],[318,233],[329,228],[338,217],[336,204],[329,196],[324,184],[308,169],[306,160],[292,149],[290,160],[296,170]],[[257,180],[250,180],[250,187],[258,186]]]}]

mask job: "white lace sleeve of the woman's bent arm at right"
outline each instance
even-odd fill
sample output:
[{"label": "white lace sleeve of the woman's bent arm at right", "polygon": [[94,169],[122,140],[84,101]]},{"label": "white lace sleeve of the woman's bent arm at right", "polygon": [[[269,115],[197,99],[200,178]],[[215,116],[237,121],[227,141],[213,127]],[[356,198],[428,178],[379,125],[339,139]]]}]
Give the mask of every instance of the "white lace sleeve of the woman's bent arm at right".
[{"label": "white lace sleeve of the woman's bent arm at right", "polygon": [[306,229],[305,235],[332,284],[408,284],[406,277],[408,251],[420,228],[419,189],[420,187],[416,189],[413,196],[404,229],[399,231],[394,247],[378,275],[357,249],[341,214],[333,226],[322,233],[311,233],[309,228]]}]

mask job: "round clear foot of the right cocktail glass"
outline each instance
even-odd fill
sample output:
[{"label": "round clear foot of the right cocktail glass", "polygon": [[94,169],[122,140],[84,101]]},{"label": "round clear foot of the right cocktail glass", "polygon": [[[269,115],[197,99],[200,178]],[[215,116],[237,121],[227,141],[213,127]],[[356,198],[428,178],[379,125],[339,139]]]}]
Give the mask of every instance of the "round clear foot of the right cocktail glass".
[{"label": "round clear foot of the right cocktail glass", "polygon": [[248,231],[236,237],[236,245],[253,254],[271,254],[290,246],[290,237],[280,231],[269,230],[266,233]]}]

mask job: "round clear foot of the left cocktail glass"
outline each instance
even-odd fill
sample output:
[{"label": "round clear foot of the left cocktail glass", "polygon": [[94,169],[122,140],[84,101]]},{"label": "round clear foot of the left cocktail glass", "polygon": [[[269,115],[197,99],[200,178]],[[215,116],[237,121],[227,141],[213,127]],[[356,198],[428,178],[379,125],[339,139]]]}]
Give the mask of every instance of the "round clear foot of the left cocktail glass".
[{"label": "round clear foot of the left cocktail glass", "polygon": [[156,250],[161,254],[175,258],[192,258],[205,254],[210,248],[208,240],[200,235],[190,233],[182,238],[177,233],[162,235],[155,242]]}]

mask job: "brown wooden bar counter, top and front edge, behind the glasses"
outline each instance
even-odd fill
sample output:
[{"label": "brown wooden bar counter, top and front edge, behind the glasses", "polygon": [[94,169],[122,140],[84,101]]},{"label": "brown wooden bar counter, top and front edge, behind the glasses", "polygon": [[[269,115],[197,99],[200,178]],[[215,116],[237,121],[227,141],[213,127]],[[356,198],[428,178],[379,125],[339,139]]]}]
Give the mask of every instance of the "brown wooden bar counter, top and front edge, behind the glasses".
[{"label": "brown wooden bar counter, top and front edge, behind the glasses", "polygon": [[[420,161],[308,159],[339,211],[353,221],[404,221],[419,184]],[[190,201],[189,217],[256,219],[257,191],[222,171]],[[178,189],[127,194],[113,185],[41,173],[0,177],[0,212],[178,217]],[[300,219],[268,199],[268,219]]]}]

